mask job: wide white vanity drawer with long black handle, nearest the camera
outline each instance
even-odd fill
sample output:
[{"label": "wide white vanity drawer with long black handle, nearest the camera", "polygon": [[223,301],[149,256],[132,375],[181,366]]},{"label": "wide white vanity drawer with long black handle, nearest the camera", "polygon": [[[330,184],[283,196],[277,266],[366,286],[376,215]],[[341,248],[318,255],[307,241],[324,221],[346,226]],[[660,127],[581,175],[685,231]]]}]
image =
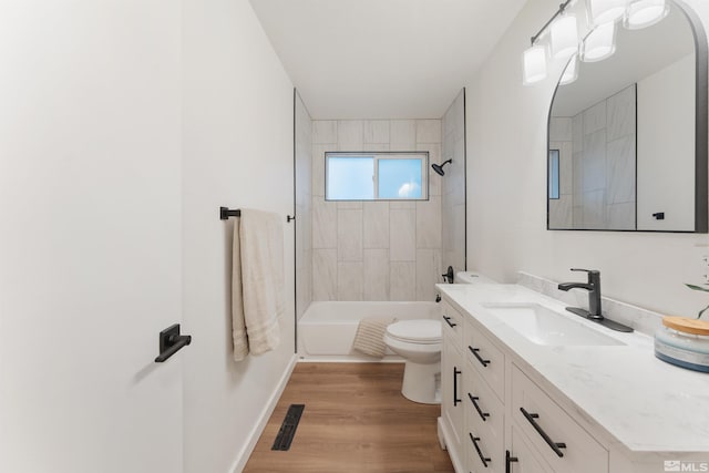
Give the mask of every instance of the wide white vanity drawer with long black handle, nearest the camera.
[{"label": "wide white vanity drawer with long black handle, nearest the camera", "polygon": [[608,451],[514,364],[512,417],[555,472],[608,471]]}]

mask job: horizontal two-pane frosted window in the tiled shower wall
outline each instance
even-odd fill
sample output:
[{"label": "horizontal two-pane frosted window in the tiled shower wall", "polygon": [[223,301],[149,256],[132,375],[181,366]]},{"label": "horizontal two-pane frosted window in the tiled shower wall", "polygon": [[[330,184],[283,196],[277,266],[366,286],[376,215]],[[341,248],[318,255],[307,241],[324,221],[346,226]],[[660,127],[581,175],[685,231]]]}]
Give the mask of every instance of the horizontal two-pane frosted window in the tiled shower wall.
[{"label": "horizontal two-pane frosted window in the tiled shower wall", "polygon": [[325,154],[327,200],[427,200],[428,152]]}]

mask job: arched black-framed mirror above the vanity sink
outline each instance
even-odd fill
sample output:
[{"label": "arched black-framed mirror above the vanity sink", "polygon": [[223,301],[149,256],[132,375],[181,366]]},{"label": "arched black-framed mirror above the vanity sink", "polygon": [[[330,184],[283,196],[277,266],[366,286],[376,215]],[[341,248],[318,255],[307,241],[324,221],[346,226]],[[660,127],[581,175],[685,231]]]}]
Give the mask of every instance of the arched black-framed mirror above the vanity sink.
[{"label": "arched black-framed mirror above the vanity sink", "polygon": [[707,40],[668,2],[651,27],[617,24],[615,54],[557,85],[547,229],[707,233]]}]

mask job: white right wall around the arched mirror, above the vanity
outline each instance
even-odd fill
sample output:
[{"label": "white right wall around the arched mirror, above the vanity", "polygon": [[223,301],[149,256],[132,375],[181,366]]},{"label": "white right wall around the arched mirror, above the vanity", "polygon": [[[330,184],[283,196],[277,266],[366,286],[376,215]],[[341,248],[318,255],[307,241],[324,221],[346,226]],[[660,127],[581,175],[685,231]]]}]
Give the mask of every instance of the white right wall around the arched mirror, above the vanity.
[{"label": "white right wall around the arched mirror, above the vanity", "polygon": [[[709,22],[708,2],[686,3]],[[606,296],[691,316],[707,298],[682,282],[701,281],[707,235],[545,229],[546,124],[562,64],[523,86],[521,55],[556,7],[531,0],[467,84],[469,268],[505,281],[517,270],[566,281],[578,278],[571,267],[597,268]]]}]

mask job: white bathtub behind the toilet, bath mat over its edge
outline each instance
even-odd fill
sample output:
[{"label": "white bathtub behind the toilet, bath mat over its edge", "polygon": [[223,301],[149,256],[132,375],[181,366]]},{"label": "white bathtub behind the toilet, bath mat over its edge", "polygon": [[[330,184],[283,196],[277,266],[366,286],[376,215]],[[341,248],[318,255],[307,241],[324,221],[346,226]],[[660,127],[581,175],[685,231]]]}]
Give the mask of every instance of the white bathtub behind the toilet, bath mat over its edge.
[{"label": "white bathtub behind the toilet, bath mat over its edge", "polygon": [[[298,322],[298,354],[302,361],[377,361],[352,350],[357,326],[362,318],[438,319],[435,302],[312,302]],[[401,361],[387,349],[384,361]]]}]

